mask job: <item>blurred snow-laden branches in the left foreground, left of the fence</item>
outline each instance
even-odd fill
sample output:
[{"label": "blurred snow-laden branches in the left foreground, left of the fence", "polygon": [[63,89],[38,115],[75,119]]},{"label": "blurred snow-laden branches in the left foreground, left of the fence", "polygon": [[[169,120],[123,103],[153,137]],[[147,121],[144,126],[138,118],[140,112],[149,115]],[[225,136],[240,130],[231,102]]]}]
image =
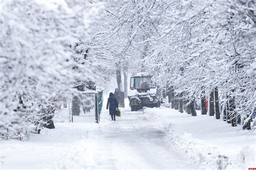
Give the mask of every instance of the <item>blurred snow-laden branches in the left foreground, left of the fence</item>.
[{"label": "blurred snow-laden branches in the left foreground, left of the fence", "polygon": [[24,138],[52,114],[56,97],[93,80],[90,66],[73,52],[93,20],[84,10],[93,7],[73,1],[0,5],[0,134]]}]

